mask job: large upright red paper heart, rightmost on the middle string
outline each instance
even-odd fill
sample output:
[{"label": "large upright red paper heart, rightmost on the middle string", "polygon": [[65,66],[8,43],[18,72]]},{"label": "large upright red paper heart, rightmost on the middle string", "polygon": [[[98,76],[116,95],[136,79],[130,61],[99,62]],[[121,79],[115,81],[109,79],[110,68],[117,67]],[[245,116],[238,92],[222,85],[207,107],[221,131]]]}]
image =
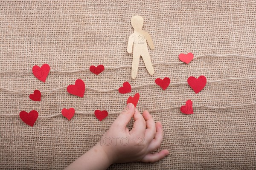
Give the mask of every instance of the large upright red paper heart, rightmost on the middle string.
[{"label": "large upright red paper heart, rightmost on the middle string", "polygon": [[203,90],[204,86],[206,85],[206,77],[200,76],[197,79],[191,76],[187,79],[187,82],[189,83],[189,86],[193,89],[193,91],[198,94],[201,90]]}]

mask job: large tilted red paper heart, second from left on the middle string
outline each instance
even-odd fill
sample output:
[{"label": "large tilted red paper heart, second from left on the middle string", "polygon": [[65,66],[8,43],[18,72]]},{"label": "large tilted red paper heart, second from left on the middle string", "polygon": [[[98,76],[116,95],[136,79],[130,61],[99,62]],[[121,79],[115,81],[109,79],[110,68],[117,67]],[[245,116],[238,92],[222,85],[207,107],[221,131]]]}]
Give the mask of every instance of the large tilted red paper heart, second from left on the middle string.
[{"label": "large tilted red paper heart, second from left on the middle string", "polygon": [[67,92],[73,94],[75,96],[83,97],[85,91],[84,81],[81,79],[77,79],[75,85],[67,86]]}]

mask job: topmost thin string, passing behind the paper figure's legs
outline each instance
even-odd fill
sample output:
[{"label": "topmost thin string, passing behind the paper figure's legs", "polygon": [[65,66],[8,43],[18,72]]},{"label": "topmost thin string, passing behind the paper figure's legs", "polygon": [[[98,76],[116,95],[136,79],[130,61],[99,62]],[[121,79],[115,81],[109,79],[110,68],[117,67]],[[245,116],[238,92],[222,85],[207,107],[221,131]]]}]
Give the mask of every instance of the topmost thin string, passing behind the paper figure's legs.
[{"label": "topmost thin string, passing behind the paper figure's legs", "polygon": [[[238,54],[224,54],[224,55],[218,55],[218,54],[207,54],[207,55],[201,55],[198,57],[194,57],[194,59],[200,58],[200,57],[246,57],[246,58],[256,58],[256,56],[246,56],[246,55],[238,55]],[[184,62],[159,62],[159,63],[154,63],[152,65],[174,65],[174,64],[185,64]],[[139,68],[144,68],[145,66],[139,66]],[[108,70],[114,70],[114,69],[119,69],[119,68],[131,68],[131,65],[122,65],[122,66],[118,66],[118,67],[114,67],[114,68],[105,68]],[[50,72],[56,72],[56,73],[76,73],[76,72],[80,72],[80,71],[86,71],[89,70],[89,68],[83,68],[81,70],[74,70],[74,71],[58,71],[58,70],[51,70]],[[0,73],[32,73],[32,71],[4,71]]]}]

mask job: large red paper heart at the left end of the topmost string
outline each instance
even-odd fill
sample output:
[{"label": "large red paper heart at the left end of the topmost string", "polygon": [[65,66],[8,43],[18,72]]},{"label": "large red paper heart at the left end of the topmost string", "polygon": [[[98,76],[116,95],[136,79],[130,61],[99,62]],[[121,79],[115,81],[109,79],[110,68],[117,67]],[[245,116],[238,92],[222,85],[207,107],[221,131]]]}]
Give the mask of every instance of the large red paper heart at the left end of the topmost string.
[{"label": "large red paper heart at the left end of the topmost string", "polygon": [[32,72],[36,78],[38,78],[42,82],[45,82],[50,72],[50,66],[48,64],[44,64],[40,68],[38,65],[34,65],[34,67],[32,68]]}]

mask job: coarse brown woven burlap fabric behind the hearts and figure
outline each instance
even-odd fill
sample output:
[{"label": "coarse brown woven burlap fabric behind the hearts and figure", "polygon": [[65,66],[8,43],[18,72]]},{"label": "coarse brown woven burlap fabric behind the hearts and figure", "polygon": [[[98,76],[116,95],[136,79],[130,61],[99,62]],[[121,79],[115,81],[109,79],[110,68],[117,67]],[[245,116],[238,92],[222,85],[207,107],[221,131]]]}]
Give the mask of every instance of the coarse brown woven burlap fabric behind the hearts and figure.
[{"label": "coarse brown woven burlap fabric behind the hearts and figure", "polygon": [[[135,80],[126,52],[134,15],[144,18],[155,45],[149,50],[155,74],[141,59]],[[66,167],[99,141],[137,92],[139,110],[163,123],[160,149],[170,154],[155,163],[109,169],[256,168],[255,0],[1,0],[0,42],[1,169]],[[188,52],[202,57],[186,65],[178,54]],[[32,74],[33,65],[44,63],[51,66],[45,83]],[[90,65],[99,64],[105,71],[92,74]],[[208,82],[195,94],[186,79],[200,75]],[[166,91],[154,84],[158,77],[170,77]],[[86,84],[83,98],[66,91],[76,79]],[[119,94],[125,81],[138,87]],[[35,89],[56,90],[34,102],[29,94]],[[188,99],[193,115],[179,111]],[[68,121],[61,109],[70,107],[77,113]],[[108,117],[99,122],[96,109],[107,110]],[[20,120],[23,110],[38,111],[34,127]]]}]

